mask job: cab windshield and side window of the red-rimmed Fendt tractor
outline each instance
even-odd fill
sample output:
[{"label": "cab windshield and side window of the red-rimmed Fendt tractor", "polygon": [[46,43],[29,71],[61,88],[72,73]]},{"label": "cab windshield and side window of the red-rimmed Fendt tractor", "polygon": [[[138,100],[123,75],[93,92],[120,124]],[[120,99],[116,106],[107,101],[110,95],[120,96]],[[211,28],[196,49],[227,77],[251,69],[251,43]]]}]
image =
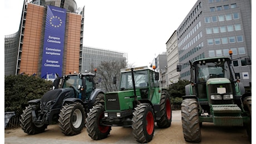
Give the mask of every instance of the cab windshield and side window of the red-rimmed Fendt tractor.
[{"label": "cab windshield and side window of the red-rimmed Fendt tractor", "polygon": [[[147,70],[134,71],[134,80],[136,88],[143,88],[149,86]],[[132,89],[131,71],[121,73],[120,89]]]}]

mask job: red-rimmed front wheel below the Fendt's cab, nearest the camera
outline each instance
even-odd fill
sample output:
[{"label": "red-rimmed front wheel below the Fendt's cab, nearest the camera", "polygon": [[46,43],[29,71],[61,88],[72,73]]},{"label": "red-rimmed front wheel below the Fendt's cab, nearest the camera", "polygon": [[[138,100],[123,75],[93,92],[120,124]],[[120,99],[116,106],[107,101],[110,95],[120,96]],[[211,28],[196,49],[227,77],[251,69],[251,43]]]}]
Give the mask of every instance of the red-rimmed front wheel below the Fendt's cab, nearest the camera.
[{"label": "red-rimmed front wheel below the Fendt's cab, nearest the camera", "polygon": [[150,104],[140,104],[132,113],[132,134],[136,141],[150,142],[154,136],[155,118]]}]

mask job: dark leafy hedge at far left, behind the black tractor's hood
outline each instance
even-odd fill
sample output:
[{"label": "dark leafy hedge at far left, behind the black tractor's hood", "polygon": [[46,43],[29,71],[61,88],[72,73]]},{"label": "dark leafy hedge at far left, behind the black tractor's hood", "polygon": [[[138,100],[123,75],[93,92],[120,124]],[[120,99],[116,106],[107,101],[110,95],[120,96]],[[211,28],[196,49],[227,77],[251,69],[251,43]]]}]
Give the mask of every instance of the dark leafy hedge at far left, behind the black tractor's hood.
[{"label": "dark leafy hedge at far left, behind the black tractor's hood", "polygon": [[51,86],[52,81],[33,75],[4,76],[4,112],[21,115],[29,100],[41,99]]}]

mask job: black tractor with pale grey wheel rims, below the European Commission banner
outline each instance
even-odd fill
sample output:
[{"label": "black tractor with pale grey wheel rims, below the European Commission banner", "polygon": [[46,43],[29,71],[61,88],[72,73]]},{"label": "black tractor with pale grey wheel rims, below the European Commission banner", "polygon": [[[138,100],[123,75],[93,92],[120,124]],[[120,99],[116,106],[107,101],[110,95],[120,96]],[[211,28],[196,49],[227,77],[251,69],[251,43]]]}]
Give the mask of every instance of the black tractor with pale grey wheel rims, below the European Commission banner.
[{"label": "black tractor with pale grey wheel rims, below the European Commission banner", "polygon": [[92,73],[75,73],[58,77],[52,90],[41,99],[28,101],[20,118],[22,130],[29,135],[44,132],[57,124],[65,135],[77,135],[85,126],[87,112],[97,102],[104,101],[104,92],[96,89]]}]

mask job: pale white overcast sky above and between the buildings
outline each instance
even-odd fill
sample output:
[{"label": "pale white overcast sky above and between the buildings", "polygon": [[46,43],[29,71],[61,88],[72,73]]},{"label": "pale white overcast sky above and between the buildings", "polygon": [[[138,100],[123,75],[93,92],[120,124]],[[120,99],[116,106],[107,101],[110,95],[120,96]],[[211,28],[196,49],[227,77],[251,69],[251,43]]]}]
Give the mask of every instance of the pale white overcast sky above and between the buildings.
[{"label": "pale white overcast sky above and between the buildings", "polygon": [[[149,65],[197,0],[77,0],[85,6],[83,46],[128,54],[128,63]],[[18,31],[23,0],[4,0],[4,35]]]}]

